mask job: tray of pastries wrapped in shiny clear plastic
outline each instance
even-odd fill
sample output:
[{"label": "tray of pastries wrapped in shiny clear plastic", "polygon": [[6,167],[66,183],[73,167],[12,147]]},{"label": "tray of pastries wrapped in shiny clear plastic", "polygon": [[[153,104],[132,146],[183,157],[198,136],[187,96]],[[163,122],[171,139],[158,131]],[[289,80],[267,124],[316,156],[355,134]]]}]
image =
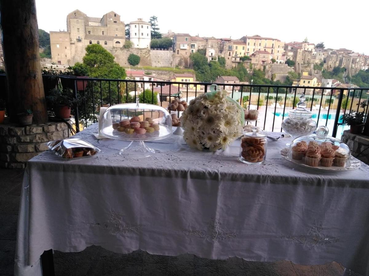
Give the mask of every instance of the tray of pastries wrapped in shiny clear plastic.
[{"label": "tray of pastries wrapped in shiny clear plastic", "polygon": [[46,143],[55,154],[66,159],[93,156],[100,151],[96,146],[78,138],[56,140]]}]

